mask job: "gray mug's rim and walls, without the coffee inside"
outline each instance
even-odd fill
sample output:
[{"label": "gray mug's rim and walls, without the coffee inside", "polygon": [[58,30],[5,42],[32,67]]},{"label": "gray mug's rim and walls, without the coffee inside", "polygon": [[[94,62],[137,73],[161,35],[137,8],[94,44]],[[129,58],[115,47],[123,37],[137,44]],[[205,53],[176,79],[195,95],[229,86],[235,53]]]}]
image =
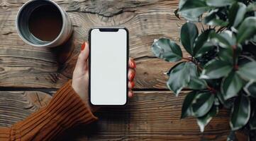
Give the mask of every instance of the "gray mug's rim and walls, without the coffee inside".
[{"label": "gray mug's rim and walls, without the coffee inside", "polygon": [[[30,32],[30,28],[28,27],[28,20],[31,13],[33,13],[36,8],[45,5],[55,6],[57,11],[60,11],[62,19],[62,27],[60,27],[60,33],[52,41],[44,41],[42,39],[38,39],[38,37],[35,37]],[[69,16],[67,16],[67,13],[62,8],[60,8],[60,6],[50,0],[32,0],[21,6],[16,17],[16,29],[18,31],[18,35],[21,37],[21,39],[23,39],[24,42],[35,47],[57,47],[60,44],[66,42],[72,34],[72,24]]]}]

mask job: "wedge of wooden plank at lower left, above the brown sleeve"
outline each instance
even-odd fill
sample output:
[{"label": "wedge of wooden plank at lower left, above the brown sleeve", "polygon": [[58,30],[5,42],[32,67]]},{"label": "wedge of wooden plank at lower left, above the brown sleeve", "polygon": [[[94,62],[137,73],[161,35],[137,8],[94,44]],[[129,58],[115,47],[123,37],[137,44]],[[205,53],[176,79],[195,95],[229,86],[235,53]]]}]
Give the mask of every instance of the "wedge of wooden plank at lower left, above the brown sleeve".
[{"label": "wedge of wooden plank at lower left, above the brown sleeve", "polygon": [[44,92],[0,92],[0,126],[9,127],[46,106],[51,96]]}]

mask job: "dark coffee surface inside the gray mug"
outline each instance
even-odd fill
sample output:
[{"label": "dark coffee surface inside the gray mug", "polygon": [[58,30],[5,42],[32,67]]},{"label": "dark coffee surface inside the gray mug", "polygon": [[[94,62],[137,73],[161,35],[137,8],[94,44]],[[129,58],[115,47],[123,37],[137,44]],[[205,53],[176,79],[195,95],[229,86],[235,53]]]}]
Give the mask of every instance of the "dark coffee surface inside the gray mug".
[{"label": "dark coffee surface inside the gray mug", "polygon": [[51,42],[62,30],[62,15],[56,6],[39,6],[28,18],[28,28],[38,39]]}]

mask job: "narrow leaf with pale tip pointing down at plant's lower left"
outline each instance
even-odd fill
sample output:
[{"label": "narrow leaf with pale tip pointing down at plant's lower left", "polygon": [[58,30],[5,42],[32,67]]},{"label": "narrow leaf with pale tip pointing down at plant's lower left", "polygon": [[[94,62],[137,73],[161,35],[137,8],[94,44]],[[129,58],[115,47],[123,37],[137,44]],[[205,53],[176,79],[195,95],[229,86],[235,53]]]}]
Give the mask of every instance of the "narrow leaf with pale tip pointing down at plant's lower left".
[{"label": "narrow leaf with pale tip pointing down at plant's lower left", "polygon": [[197,124],[199,125],[201,133],[204,132],[204,127],[210,123],[211,119],[218,114],[218,106],[214,106],[205,116],[197,118]]}]

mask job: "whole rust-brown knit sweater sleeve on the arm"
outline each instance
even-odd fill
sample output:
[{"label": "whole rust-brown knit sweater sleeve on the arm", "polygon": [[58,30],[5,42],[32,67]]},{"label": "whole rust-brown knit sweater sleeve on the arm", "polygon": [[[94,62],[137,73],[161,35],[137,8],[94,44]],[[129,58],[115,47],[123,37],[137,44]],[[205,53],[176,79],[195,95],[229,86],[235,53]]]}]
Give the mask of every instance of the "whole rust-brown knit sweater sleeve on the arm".
[{"label": "whole rust-brown knit sweater sleeve on the arm", "polygon": [[48,106],[11,128],[0,128],[0,140],[54,140],[67,128],[97,118],[74,92],[71,80],[56,92]]}]

